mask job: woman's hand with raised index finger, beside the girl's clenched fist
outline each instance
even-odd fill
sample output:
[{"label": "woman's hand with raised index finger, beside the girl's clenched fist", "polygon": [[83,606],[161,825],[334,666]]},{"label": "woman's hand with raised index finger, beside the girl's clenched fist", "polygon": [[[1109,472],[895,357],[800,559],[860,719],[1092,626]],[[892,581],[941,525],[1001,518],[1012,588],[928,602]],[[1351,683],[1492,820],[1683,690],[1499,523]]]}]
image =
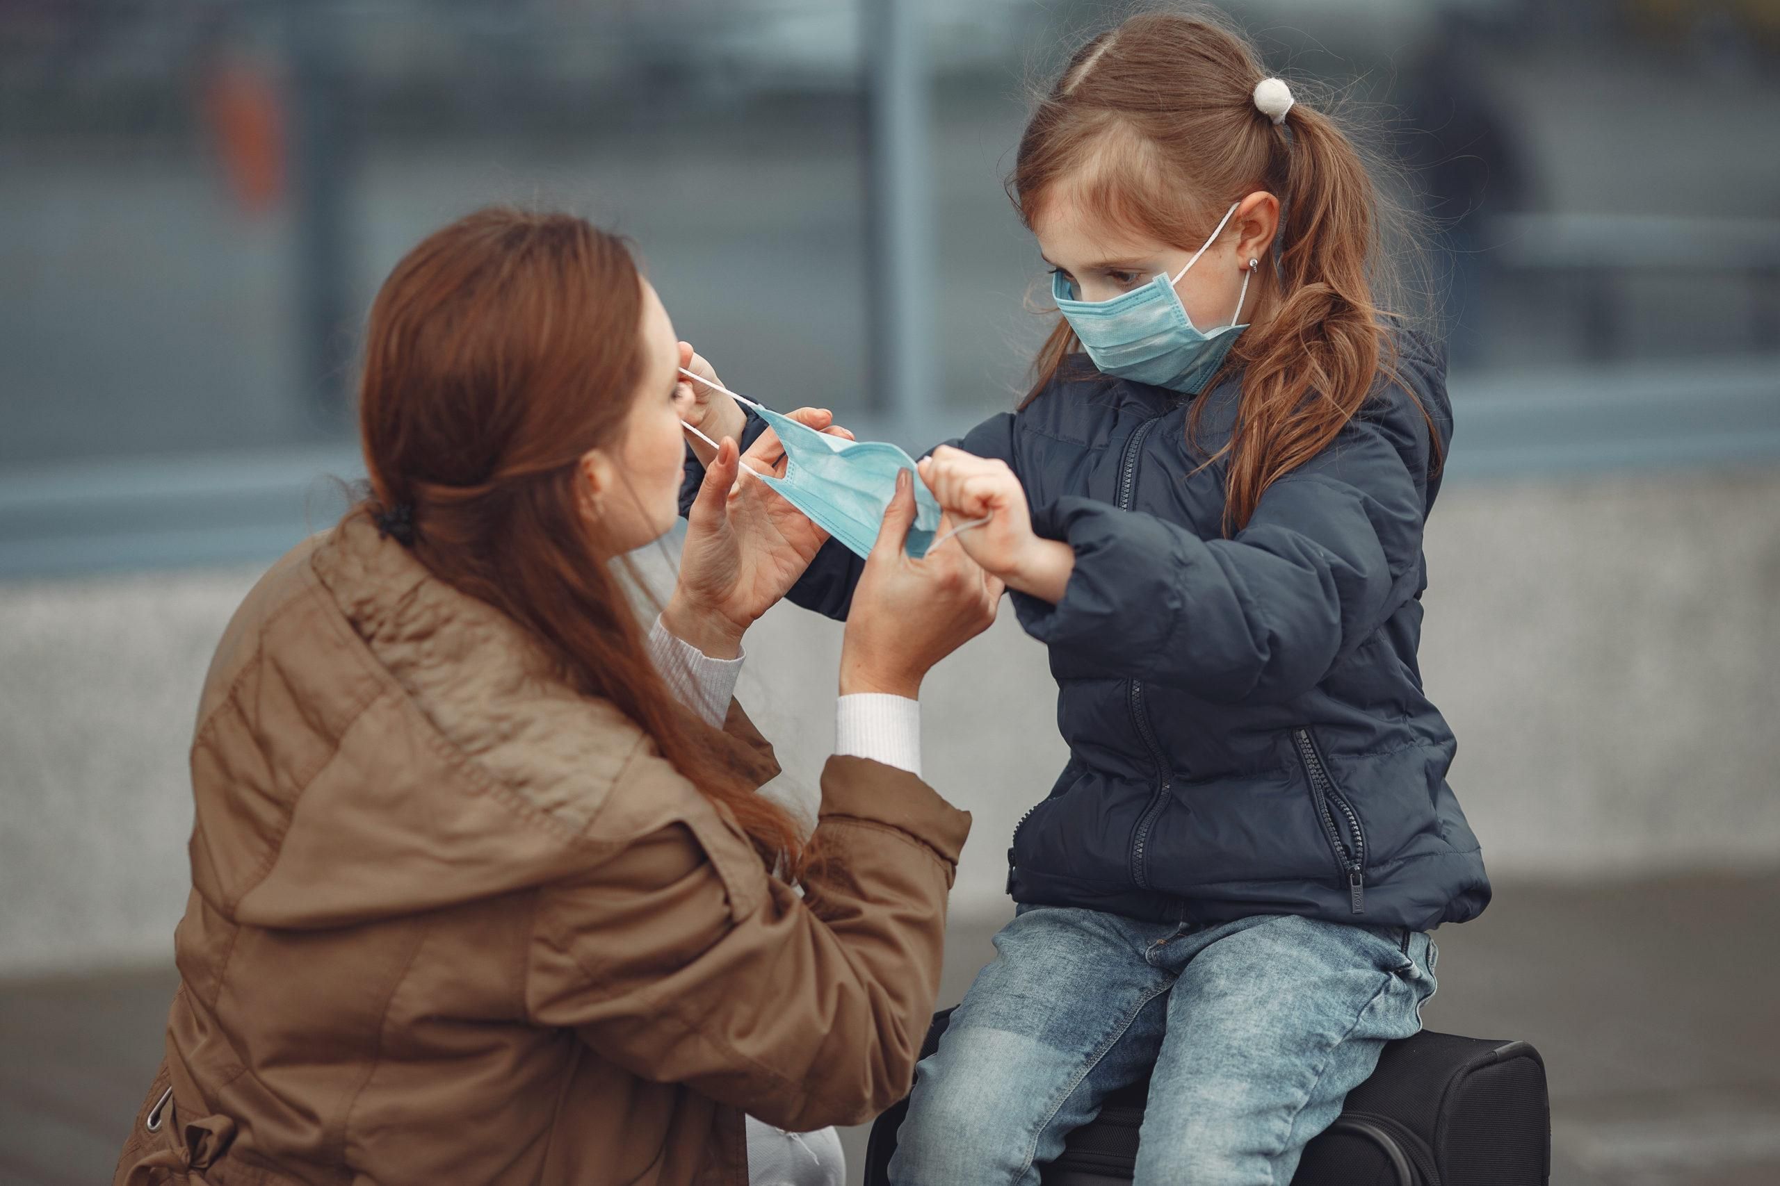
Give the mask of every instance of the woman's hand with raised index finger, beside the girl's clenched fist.
[{"label": "woman's hand with raised index finger, beside the girl's clenched fist", "polygon": [[[915,485],[904,469],[853,590],[840,645],[840,693],[886,692],[917,699],[934,663],[995,621],[1002,581],[961,548],[940,546],[920,560],[902,551],[915,521]],[[947,519],[940,519],[945,530]]]}]

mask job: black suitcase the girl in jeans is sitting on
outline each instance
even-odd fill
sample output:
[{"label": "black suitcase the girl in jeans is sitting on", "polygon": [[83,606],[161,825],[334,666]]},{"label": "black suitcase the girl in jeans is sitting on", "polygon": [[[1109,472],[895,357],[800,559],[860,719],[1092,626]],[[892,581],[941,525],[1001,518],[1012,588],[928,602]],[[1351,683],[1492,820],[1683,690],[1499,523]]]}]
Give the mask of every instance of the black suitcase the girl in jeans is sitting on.
[{"label": "black suitcase the girl in jeans is sitting on", "polygon": [[[952,1010],[934,1014],[920,1056],[940,1044]],[[1041,1170],[1045,1186],[1120,1186],[1137,1159],[1148,1083],[1114,1092]],[[865,1186],[888,1186],[908,1101],[878,1117]],[[1550,1106],[1545,1062],[1525,1042],[1417,1033],[1390,1042],[1340,1117],[1305,1145],[1292,1186],[1545,1186]],[[934,1184],[938,1186],[938,1184]]]}]

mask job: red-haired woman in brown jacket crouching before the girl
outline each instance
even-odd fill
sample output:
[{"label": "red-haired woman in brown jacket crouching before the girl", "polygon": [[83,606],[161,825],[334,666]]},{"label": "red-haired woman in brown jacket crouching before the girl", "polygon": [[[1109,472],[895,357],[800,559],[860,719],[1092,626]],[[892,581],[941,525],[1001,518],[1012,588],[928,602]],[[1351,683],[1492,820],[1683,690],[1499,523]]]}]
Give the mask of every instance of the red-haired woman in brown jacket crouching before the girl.
[{"label": "red-haired woman in brown jacket crouching before the girl", "polygon": [[609,571],[676,517],[689,357],[578,219],[482,212],[384,283],[372,498],[272,567],[205,686],[182,985],[119,1182],[739,1184],[744,1113],[908,1088],[968,830],[915,695],[1000,583],[904,557],[904,475],[805,843],[728,688],[822,535],[724,441],[651,631]]}]

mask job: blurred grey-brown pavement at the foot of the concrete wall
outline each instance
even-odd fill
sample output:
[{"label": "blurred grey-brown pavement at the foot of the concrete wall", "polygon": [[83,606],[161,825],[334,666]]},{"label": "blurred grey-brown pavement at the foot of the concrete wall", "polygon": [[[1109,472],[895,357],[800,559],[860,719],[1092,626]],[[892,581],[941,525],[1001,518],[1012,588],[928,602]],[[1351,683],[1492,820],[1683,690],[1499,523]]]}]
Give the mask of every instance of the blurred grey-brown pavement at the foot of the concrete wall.
[{"label": "blurred grey-brown pavement at the foot of the concrete wall", "polygon": [[[954,918],[940,1003],[1004,914]],[[1556,1186],[1780,1181],[1780,871],[1499,885],[1436,932],[1433,1030],[1525,1038]],[[160,1058],[167,967],[0,983],[0,1186],[105,1181]],[[853,1181],[865,1129],[842,1134]]]}]

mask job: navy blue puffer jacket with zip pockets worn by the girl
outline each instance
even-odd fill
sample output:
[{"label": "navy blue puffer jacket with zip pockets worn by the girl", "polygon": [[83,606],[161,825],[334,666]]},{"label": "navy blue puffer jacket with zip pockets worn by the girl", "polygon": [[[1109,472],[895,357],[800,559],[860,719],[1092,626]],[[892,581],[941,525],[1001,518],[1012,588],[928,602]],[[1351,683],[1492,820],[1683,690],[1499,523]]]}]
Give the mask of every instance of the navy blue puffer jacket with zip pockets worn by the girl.
[{"label": "navy blue puffer jacket with zip pockets worn by the girl", "polygon": [[[1070,359],[1025,409],[956,441],[1006,461],[1036,532],[1075,549],[1063,601],[1013,594],[1050,647],[1070,745],[1015,829],[1016,902],[1419,930],[1490,902],[1445,782],[1452,733],[1415,661],[1438,491],[1422,409],[1444,452],[1445,361],[1408,340],[1399,372],[1420,404],[1381,382],[1234,539],[1225,468],[1200,466],[1230,436],[1239,379],[1182,397]],[[1193,398],[1209,402],[1198,448]],[[829,542],[792,601],[846,617],[860,564]]]}]

